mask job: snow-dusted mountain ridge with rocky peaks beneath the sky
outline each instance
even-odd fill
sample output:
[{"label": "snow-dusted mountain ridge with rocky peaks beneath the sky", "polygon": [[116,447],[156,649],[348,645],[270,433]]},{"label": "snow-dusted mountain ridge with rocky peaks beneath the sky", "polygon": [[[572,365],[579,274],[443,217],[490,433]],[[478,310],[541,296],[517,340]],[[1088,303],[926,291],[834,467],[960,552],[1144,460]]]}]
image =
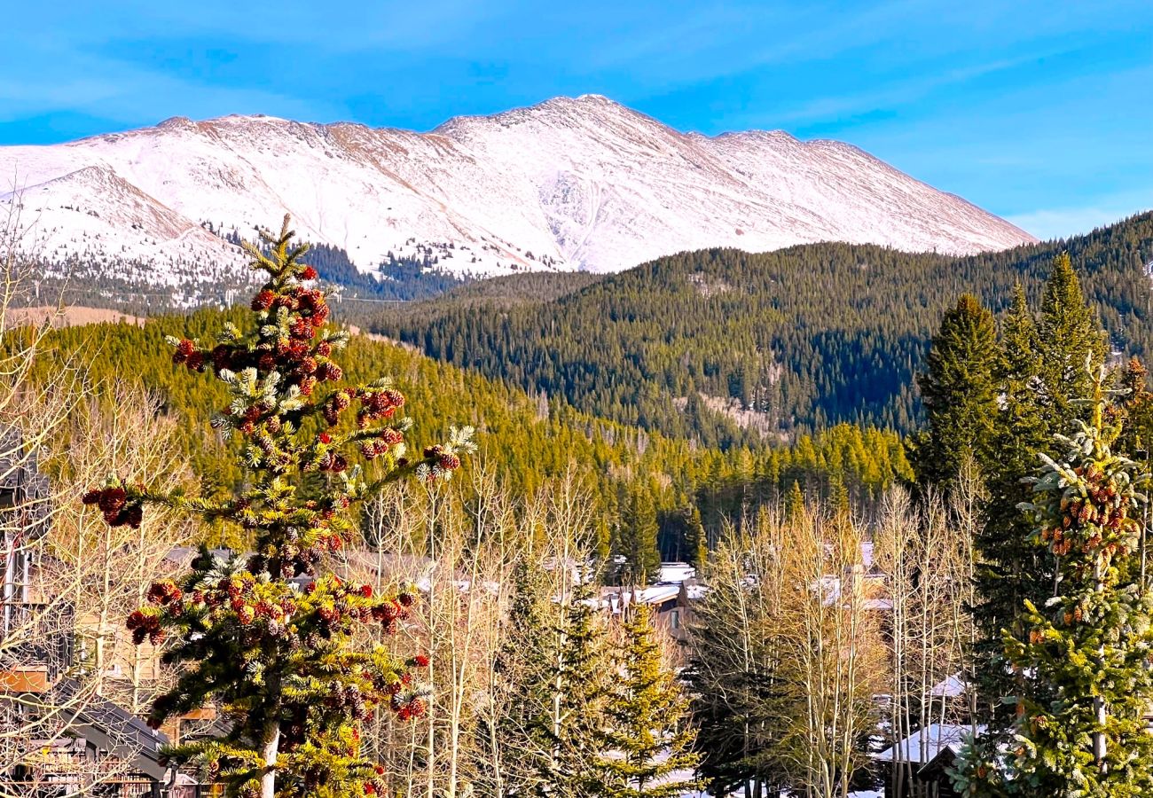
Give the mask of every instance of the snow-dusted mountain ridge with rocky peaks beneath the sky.
[{"label": "snow-dusted mountain ridge with rocky peaks beneath the sky", "polygon": [[[0,205],[48,259],[130,262],[173,283],[239,269],[204,229],[273,227],[375,270],[431,254],[458,274],[617,271],[680,250],[814,241],[964,254],[1034,239],[861,150],[786,133],[673,130],[608,98],[560,97],[427,134],[270,116],[0,148]],[[14,189],[14,190],[13,190]],[[3,208],[0,206],[0,212]]]}]

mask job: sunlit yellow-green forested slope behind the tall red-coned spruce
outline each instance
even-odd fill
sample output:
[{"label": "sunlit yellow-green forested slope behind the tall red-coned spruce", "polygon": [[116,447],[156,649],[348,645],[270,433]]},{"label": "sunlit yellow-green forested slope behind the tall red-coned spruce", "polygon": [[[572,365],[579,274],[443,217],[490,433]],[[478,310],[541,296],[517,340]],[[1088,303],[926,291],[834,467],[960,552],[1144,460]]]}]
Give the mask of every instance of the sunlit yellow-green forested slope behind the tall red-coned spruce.
[{"label": "sunlit yellow-green forested slope behind the tall red-coned spruce", "polygon": [[[156,392],[165,412],[181,420],[181,446],[203,489],[212,494],[232,488],[241,477],[226,444],[203,421],[227,404],[226,392],[218,382],[175,368],[165,336],[206,339],[224,316],[201,310],[156,317],[141,328],[125,323],[66,328],[52,332],[47,344],[59,347],[60,362],[74,359],[88,370],[103,385],[97,393],[105,400],[111,400],[113,392],[107,389],[116,379],[140,381]],[[244,315],[234,310],[227,317],[240,323]],[[680,511],[689,505],[699,507],[706,526],[715,530],[723,517],[739,517],[793,482],[813,495],[832,491],[868,499],[911,476],[899,437],[874,428],[844,424],[789,447],[723,452],[600,420],[562,398],[547,400],[400,346],[357,337],[342,360],[353,379],[395,379],[409,399],[406,412],[412,413],[420,439],[443,436],[450,424],[474,424],[482,461],[517,495],[530,494],[578,464],[606,535],[617,518],[618,497],[632,489],[654,499],[665,537],[676,539]],[[43,362],[40,376],[54,368],[58,363]],[[676,540],[665,545],[675,552]]]}]

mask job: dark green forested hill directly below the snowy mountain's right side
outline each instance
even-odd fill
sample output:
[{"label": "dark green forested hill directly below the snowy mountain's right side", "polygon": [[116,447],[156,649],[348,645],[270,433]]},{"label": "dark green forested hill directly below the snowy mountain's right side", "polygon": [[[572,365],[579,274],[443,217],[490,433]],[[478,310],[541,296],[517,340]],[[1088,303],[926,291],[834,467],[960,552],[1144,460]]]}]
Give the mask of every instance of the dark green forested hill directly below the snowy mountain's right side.
[{"label": "dark green forested hill directly below the snowy mountain's right side", "polygon": [[[1153,349],[1153,214],[1069,240],[971,257],[821,243],[685,253],[550,302],[384,309],[372,328],[432,357],[645,429],[730,447],[867,422],[909,431],[912,375],[944,308],[1037,300],[1068,250],[1114,348]],[[748,413],[753,411],[753,413]]]}]

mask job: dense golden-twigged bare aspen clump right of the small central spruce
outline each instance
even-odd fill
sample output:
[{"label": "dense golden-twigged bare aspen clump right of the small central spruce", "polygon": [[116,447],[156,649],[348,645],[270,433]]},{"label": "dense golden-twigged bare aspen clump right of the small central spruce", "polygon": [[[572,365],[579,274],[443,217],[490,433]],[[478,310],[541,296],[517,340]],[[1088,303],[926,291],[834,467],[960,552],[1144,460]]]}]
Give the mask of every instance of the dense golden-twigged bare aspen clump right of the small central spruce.
[{"label": "dense golden-twigged bare aspen clump right of the small central spruce", "polygon": [[710,556],[689,675],[714,792],[850,793],[886,672],[861,534],[797,504],[761,511]]}]

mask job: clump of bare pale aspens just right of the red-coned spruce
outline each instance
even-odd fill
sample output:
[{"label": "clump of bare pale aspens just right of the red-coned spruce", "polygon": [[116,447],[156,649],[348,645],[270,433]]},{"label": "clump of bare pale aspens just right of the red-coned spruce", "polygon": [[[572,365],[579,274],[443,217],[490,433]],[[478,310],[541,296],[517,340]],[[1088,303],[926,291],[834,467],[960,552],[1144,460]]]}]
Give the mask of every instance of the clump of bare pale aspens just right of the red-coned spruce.
[{"label": "clump of bare pale aspens just right of the red-coned spruce", "polygon": [[[563,658],[572,601],[590,589],[582,582],[591,575],[586,566],[594,532],[575,473],[517,500],[480,468],[436,490],[398,485],[372,506],[364,532],[368,548],[348,554],[346,567],[370,584],[417,586],[422,601],[399,645],[429,656],[428,716],[419,725],[385,720],[364,730],[389,770],[391,792],[526,795],[528,784],[555,769],[558,780],[549,789],[568,795],[563,774],[595,748],[587,738],[563,735],[556,745],[538,745],[519,724],[532,717],[563,729],[578,712]],[[519,566],[532,570],[537,586],[541,627],[533,633],[507,623]],[[601,625],[600,609],[591,609]],[[556,682],[550,676],[521,692],[540,672],[503,653],[528,648]]]}]

